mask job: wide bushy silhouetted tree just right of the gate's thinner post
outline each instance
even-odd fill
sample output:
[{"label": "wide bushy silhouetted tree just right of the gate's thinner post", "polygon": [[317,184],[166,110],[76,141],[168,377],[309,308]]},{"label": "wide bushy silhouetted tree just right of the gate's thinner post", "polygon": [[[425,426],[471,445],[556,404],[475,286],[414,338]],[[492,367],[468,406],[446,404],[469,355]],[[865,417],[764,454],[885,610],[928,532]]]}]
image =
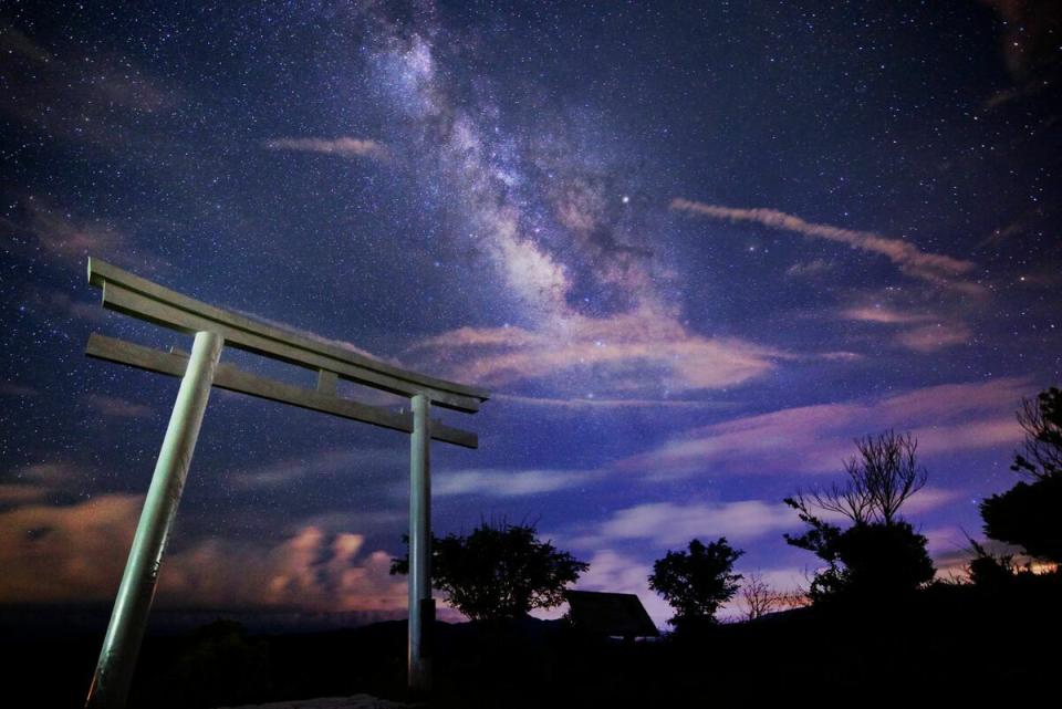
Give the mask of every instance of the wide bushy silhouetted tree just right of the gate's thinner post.
[{"label": "wide bushy silhouetted tree just right of the gate's thinner post", "polygon": [[[431,585],[476,621],[514,618],[564,601],[564,588],[590,564],[535,538],[534,525],[481,522],[468,536],[431,543]],[[403,536],[408,543],[408,536]],[[393,559],[392,574],[409,573],[408,553]]]}]

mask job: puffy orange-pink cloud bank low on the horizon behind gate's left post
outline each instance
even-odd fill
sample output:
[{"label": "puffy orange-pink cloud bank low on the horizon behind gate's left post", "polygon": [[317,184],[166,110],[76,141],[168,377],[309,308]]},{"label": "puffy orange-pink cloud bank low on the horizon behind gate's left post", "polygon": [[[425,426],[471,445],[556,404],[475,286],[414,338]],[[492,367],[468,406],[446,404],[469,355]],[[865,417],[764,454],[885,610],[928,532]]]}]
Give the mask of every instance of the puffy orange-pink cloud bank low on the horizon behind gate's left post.
[{"label": "puffy orange-pink cloud bank low on the horizon behind gate's left post", "polygon": [[[0,512],[0,603],[112,599],[142,504],[140,496],[102,494],[73,505],[31,503]],[[167,554],[158,593],[162,603],[185,607],[399,614],[405,581],[388,574],[389,559],[367,552],[361,534],[312,524],[277,542],[208,536]]]}]

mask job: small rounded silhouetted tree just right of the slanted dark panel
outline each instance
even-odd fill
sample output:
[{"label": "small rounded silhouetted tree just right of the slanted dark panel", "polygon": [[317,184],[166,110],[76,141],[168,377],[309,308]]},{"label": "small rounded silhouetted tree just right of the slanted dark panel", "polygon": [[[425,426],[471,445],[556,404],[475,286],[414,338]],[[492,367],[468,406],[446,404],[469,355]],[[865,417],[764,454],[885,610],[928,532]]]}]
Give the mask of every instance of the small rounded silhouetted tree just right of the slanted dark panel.
[{"label": "small rounded silhouetted tree just right of the slanted dark panel", "polygon": [[668,623],[676,628],[715,623],[716,611],[738,591],[742,576],[733,573],[733,562],[743,553],[720,536],[707,546],[695,539],[688,552],[668,551],[656,560],[649,588],[675,608]]}]

